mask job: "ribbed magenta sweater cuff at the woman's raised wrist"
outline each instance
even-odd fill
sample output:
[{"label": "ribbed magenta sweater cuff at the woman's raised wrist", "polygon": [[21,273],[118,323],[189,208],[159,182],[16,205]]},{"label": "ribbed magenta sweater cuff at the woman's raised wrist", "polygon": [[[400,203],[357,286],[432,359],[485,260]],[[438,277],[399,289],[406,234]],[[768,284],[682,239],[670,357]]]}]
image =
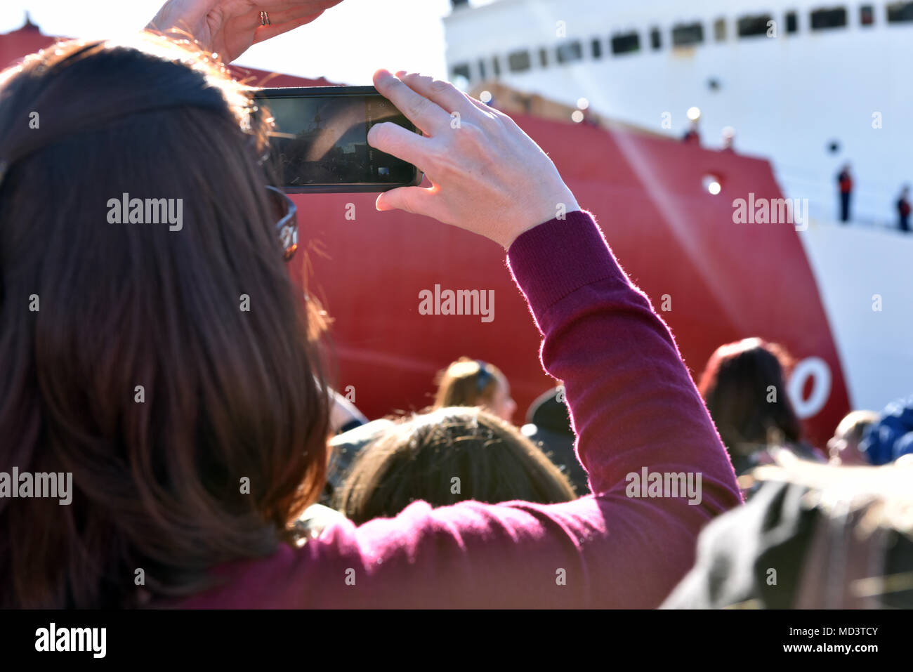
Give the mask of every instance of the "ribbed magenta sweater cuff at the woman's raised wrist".
[{"label": "ribbed magenta sweater cuff at the woman's raised wrist", "polygon": [[593,215],[575,210],[517,236],[508,265],[530,306],[548,310],[572,292],[606,278],[629,284]]}]

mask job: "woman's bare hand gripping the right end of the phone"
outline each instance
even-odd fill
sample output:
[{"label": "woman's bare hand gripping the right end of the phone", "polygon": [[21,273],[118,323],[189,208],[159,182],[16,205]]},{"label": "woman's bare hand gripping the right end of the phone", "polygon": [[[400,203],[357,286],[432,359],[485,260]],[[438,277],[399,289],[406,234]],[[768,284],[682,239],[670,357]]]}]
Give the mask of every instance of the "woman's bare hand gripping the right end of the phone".
[{"label": "woman's bare hand gripping the right end of the phone", "polygon": [[374,86],[425,135],[385,122],[368,142],[431,181],[380,194],[379,210],[434,217],[507,248],[533,226],[580,209],[548,155],[506,114],[421,75],[378,70]]}]

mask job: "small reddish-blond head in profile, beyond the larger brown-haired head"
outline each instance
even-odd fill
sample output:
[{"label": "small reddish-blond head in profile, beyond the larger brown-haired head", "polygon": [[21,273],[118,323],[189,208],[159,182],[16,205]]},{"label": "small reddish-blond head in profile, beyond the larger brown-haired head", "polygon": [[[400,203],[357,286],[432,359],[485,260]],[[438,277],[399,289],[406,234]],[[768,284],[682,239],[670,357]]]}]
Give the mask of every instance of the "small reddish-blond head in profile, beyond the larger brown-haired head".
[{"label": "small reddish-blond head in profile, beyond the larger brown-haired head", "polygon": [[460,357],[437,374],[436,384],[435,408],[480,406],[507,421],[517,410],[508,379],[488,362]]}]

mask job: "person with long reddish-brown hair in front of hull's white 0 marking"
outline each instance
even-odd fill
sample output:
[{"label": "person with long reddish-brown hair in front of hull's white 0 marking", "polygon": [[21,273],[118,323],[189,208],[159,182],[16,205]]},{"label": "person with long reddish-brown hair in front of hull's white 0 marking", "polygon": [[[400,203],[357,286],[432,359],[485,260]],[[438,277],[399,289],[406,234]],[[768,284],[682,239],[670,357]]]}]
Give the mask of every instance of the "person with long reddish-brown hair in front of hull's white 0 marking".
[{"label": "person with long reddish-brown hair in front of hull's white 0 marking", "polygon": [[775,461],[782,448],[804,459],[824,459],[803,441],[786,394],[791,366],[782,346],[750,338],[719,346],[700,376],[698,389],[740,476]]}]

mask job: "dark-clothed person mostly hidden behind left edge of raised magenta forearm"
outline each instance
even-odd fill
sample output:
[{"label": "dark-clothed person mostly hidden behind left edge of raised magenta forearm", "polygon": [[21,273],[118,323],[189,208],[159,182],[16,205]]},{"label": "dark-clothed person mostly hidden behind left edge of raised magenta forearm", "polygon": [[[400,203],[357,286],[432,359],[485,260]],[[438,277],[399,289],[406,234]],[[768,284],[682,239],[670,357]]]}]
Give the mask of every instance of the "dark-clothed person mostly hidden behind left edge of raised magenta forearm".
[{"label": "dark-clothed person mostly hidden behind left edge of raised magenta forearm", "polygon": [[567,404],[564,403],[562,385],[540,394],[530,404],[526,413],[526,425],[520,427],[520,432],[534,444],[541,446],[546,456],[571,482],[574,492],[584,495],[590,491],[586,470],[574,452],[576,437]]}]

